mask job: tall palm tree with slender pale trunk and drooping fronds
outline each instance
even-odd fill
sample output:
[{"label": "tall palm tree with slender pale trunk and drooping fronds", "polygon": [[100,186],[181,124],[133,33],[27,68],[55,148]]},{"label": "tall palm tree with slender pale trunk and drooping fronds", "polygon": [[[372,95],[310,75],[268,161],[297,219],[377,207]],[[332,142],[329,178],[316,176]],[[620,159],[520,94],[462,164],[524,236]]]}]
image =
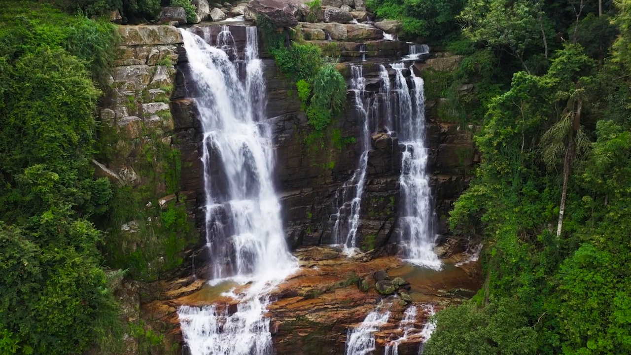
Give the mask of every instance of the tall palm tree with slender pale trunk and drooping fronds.
[{"label": "tall palm tree with slender pale trunk and drooping fronds", "polygon": [[581,127],[582,91],[583,89],[577,89],[569,95],[560,119],[541,137],[542,158],[549,169],[555,169],[563,157],[563,188],[558,209],[557,240],[561,238],[563,227],[570,167],[575,157],[589,148],[589,139]]}]

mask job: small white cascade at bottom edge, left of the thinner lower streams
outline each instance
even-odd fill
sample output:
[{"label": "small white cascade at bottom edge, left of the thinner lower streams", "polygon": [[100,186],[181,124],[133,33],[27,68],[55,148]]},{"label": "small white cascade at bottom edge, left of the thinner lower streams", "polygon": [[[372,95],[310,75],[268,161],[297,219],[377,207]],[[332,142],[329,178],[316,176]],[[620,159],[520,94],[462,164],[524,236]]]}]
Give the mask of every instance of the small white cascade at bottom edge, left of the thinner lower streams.
[{"label": "small white cascade at bottom edge, left of the thinner lower streams", "polygon": [[357,328],[348,330],[344,355],[371,354],[375,350],[373,334],[379,330],[381,325],[388,322],[388,318],[390,318],[390,311],[374,310],[366,316]]}]

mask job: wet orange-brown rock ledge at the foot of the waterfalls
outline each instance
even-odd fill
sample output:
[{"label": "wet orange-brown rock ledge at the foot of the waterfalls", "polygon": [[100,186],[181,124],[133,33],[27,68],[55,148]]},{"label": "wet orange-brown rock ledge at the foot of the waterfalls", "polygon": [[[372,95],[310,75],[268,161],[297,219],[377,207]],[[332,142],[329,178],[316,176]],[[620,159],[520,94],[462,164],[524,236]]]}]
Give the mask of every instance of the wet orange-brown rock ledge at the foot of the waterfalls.
[{"label": "wet orange-brown rock ledge at the foot of the waterfalls", "polygon": [[[420,330],[428,316],[424,304],[432,304],[438,310],[447,304],[459,302],[473,295],[480,287],[478,263],[456,262],[466,260],[466,255],[451,255],[442,271],[413,267],[395,256],[370,260],[369,253],[346,258],[333,248],[310,247],[295,251],[300,269],[271,292],[268,315],[274,346],[278,355],[343,354],[346,335],[357,327],[377,304],[388,307],[388,322],[375,332],[377,352],[403,335],[399,322],[407,306],[398,303],[398,296],[381,296],[374,288],[374,272],[386,270],[389,277],[403,277],[410,282],[410,304],[417,306],[415,328]],[[370,284],[367,292],[358,285],[362,280]],[[181,342],[177,308],[181,305],[204,306],[216,304],[218,308],[235,308],[235,299],[222,293],[235,288],[244,291],[247,285],[220,284],[209,286],[204,280],[179,279],[155,282],[155,287],[165,287],[153,293],[153,300],[142,306],[143,318],[161,323],[163,334],[172,342]],[[408,286],[401,286],[408,287]],[[408,304],[408,306],[410,306]],[[422,339],[410,335],[399,344],[399,354],[417,354]]]}]

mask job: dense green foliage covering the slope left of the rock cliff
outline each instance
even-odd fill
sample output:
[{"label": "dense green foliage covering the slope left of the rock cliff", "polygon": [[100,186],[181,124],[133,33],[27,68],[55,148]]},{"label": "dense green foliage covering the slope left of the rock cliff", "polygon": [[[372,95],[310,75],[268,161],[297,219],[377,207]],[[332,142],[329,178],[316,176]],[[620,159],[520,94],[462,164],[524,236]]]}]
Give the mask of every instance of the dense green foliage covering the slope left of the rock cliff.
[{"label": "dense green foliage covering the slope left of the rock cliff", "polygon": [[24,2],[0,22],[0,348],[80,354],[119,335],[89,221],[112,196],[90,159],[114,27]]}]

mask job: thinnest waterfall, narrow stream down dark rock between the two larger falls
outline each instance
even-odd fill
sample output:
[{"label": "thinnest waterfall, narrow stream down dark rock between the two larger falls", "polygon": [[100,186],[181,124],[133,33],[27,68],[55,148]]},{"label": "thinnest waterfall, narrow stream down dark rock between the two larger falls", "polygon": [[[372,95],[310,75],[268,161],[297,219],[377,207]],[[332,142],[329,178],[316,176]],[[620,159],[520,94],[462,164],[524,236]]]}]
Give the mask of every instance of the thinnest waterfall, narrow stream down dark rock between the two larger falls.
[{"label": "thinnest waterfall, narrow stream down dark rock between the two larger falls", "polygon": [[[366,80],[363,77],[363,67],[361,65],[351,65],[351,85],[350,91],[353,92],[355,100],[355,110],[362,119],[362,135],[360,143],[362,154],[359,159],[359,166],[353,173],[353,176],[346,181],[342,187],[336,192],[336,203],[338,208],[335,214],[335,223],[333,225],[333,243],[343,244],[346,255],[352,255],[355,252],[357,243],[357,229],[359,227],[360,208],[362,205],[363,188],[366,179],[366,169],[368,167],[368,152],[370,150],[370,133],[371,123],[370,108],[372,107],[370,100],[365,100]],[[356,186],[355,186],[356,185]],[[355,187],[352,200],[350,201],[350,216],[348,221],[344,218],[342,210],[346,208],[348,195]],[[343,237],[343,224],[348,222],[348,232]]]}]

